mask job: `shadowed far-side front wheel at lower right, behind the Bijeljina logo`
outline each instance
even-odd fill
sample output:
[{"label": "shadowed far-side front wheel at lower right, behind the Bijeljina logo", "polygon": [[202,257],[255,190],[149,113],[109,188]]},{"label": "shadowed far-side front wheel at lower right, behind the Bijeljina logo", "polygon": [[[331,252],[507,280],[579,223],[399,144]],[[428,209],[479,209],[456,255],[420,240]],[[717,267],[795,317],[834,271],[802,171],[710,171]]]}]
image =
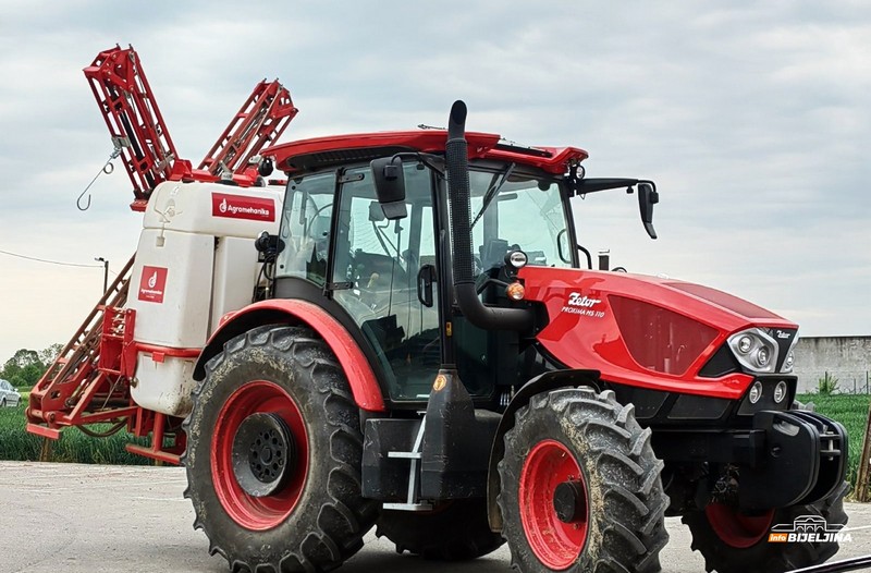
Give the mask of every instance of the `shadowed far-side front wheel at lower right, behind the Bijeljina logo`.
[{"label": "shadowed far-side front wheel at lower right, behind the Bijeljina logo", "polygon": [[706,571],[717,573],[783,573],[823,563],[838,550],[838,544],[820,541],[769,542],[775,525],[792,525],[797,517],[823,517],[827,525],[845,525],[845,481],[829,498],[810,505],[793,505],[762,514],[745,515],[735,508],[711,503],[702,511],[684,515],[692,534],[692,549],[704,557]]}]

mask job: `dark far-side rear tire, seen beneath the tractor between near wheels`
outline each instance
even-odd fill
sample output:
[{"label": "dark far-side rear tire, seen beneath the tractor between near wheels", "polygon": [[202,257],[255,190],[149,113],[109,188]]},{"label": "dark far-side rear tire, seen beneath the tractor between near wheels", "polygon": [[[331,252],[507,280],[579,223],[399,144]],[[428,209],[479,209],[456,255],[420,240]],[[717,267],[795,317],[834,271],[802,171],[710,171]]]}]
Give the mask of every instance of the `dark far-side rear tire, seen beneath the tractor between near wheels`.
[{"label": "dark far-side rear tire, seen beneath the tractor between near wheels", "polygon": [[502,536],[490,531],[484,499],[457,499],[433,511],[382,511],[376,534],[424,559],[464,561],[495,551]]}]

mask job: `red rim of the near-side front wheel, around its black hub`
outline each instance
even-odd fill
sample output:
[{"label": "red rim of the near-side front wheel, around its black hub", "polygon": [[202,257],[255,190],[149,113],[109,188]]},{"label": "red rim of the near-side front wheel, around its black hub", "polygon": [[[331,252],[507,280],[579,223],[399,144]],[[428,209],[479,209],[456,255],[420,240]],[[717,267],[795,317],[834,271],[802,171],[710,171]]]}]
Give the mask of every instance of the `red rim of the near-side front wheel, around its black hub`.
[{"label": "red rim of the near-side front wheel, around its black hub", "polygon": [[589,509],[575,523],[560,521],[553,507],[556,486],[579,481],[584,505],[589,508],[587,484],[575,456],[555,440],[532,448],[520,472],[520,522],[536,557],[548,568],[562,571],[574,564],[587,540]]}]

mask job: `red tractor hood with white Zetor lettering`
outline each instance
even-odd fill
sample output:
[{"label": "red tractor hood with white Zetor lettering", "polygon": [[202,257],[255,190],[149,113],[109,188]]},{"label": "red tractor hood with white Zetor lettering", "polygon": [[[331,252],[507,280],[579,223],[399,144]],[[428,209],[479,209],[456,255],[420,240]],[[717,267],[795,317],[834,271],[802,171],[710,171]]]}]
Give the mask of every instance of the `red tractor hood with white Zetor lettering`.
[{"label": "red tractor hood with white Zetor lettering", "polygon": [[752,330],[771,341],[768,374],[782,373],[798,327],[752,303],[700,284],[623,272],[529,266],[525,300],[541,303],[536,338],[568,368],[645,388],[667,381],[684,391],[736,399],[756,374],[729,337]]}]

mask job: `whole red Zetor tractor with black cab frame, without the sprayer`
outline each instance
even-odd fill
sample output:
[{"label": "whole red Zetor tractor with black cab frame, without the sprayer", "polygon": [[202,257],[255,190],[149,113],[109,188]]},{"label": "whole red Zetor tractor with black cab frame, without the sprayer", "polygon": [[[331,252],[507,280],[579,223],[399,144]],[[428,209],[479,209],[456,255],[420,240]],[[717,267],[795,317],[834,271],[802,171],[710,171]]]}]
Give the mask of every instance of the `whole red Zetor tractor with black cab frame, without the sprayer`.
[{"label": "whole red Zetor tractor with black cab frame, without the sprayer", "polygon": [[205,346],[184,423],[211,551],[329,571],[375,525],[430,559],[507,541],[524,572],[643,573],[680,515],[708,571],[832,557],[820,536],[769,542],[800,516],[847,521],[844,428],[794,402],[796,325],[590,270],[572,198],[628,187],[655,239],[654,184],[585,179],[585,151],[465,119],[458,101],[447,133],[265,154],[290,178],[257,240],[266,278]]}]

